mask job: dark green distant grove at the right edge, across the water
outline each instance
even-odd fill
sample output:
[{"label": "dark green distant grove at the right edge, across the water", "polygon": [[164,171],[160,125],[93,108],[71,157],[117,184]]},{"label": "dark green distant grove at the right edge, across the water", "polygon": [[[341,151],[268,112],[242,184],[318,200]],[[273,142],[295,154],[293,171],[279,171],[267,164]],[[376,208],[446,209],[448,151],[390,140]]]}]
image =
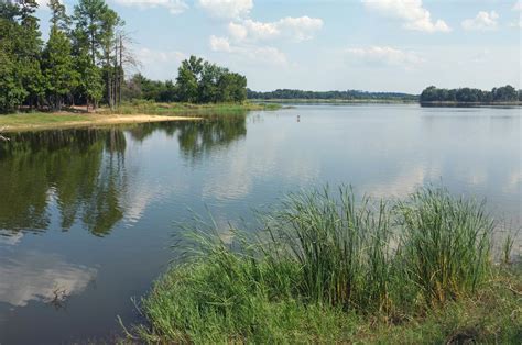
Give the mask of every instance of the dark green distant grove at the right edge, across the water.
[{"label": "dark green distant grove at the right edge, across the water", "polygon": [[438,89],[434,86],[421,93],[421,103],[455,102],[455,103],[505,103],[522,101],[522,91],[508,85],[483,91],[471,88]]}]

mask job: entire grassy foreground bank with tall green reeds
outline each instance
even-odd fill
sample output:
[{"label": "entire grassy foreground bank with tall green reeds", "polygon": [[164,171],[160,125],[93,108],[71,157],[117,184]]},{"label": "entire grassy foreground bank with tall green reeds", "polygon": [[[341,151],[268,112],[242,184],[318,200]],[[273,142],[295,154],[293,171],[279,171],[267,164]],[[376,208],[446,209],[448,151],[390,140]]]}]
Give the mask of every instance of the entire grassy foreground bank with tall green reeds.
[{"label": "entire grassy foreground bank with tall green reeds", "polygon": [[253,234],[197,223],[129,336],[519,344],[522,269],[493,265],[494,226],[483,203],[444,189],[378,203],[344,187],[290,194]]}]

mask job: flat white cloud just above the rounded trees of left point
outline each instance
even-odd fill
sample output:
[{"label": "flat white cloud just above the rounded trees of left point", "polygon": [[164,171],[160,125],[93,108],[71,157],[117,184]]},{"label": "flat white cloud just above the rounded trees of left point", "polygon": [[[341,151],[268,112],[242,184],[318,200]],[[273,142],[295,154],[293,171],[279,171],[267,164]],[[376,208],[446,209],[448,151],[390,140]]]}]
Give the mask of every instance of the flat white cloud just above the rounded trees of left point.
[{"label": "flat white cloud just above the rounded trees of left point", "polygon": [[286,56],[275,47],[255,46],[255,45],[231,45],[227,37],[210,36],[210,49],[218,53],[229,53],[246,58],[250,62],[257,62],[269,65],[285,65]]}]

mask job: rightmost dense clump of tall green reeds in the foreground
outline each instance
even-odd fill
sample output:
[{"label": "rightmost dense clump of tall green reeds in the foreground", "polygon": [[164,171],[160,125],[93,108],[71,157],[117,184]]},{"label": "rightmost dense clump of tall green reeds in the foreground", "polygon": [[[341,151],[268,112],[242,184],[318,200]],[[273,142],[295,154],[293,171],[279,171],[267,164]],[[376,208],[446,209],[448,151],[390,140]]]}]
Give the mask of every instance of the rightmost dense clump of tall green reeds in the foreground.
[{"label": "rightmost dense clump of tall green reeds in the foreground", "polygon": [[455,199],[444,189],[421,189],[398,205],[403,274],[426,302],[475,292],[487,279],[494,222],[485,204]]}]

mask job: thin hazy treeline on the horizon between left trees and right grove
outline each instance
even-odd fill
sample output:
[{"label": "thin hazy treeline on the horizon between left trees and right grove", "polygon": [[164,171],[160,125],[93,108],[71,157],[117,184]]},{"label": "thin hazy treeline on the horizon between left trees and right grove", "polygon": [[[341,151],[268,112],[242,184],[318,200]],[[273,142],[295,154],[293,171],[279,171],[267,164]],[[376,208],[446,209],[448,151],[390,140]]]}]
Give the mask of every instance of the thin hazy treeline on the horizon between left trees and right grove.
[{"label": "thin hazy treeline on the horizon between left trees and right grove", "polygon": [[303,91],[278,89],[269,92],[257,92],[248,89],[249,99],[303,99],[303,100],[395,100],[417,101],[418,96],[400,92],[367,92],[359,90],[346,91]]}]

